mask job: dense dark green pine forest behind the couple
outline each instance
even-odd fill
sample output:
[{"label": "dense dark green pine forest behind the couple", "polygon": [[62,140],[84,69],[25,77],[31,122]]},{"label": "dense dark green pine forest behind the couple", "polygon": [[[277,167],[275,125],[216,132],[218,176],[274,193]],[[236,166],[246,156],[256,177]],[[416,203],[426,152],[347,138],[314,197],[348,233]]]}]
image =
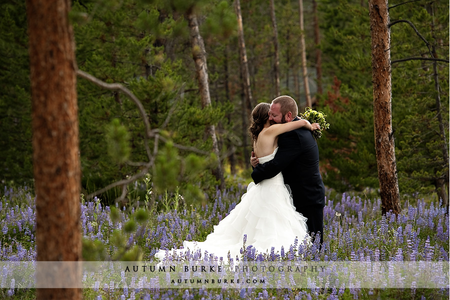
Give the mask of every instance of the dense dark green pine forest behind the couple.
[{"label": "dense dark green pine forest behind the couple", "polygon": [[[126,86],[143,104],[150,127],[158,129],[161,142],[154,166],[148,170],[157,191],[153,195],[180,193],[186,202],[199,204],[221,183],[230,187],[251,180],[247,127],[256,103],[288,94],[298,101],[299,111],[304,111],[303,31],[298,1],[274,2],[277,42],[270,1],[240,2],[252,93],[248,100],[233,1],[196,1],[211,98],[211,105],[202,107],[184,18],[187,2],[73,1],[70,17],[79,69],[104,82]],[[402,1],[397,2],[389,3],[391,21],[411,21],[429,45],[408,24],[395,24],[390,28],[392,61],[430,58],[431,47],[434,57],[448,60],[448,2],[420,0],[395,6]],[[323,181],[339,192],[376,195],[367,3],[304,1],[303,8],[312,106],[323,111],[330,123],[317,141]],[[1,180],[5,185],[32,186],[28,37],[22,1],[0,3],[0,66]],[[448,199],[448,74],[447,62],[392,64],[392,136],[404,198],[420,193]],[[143,181],[139,181],[141,186],[136,180],[126,180],[142,170],[147,156],[138,109],[120,92],[80,77],[77,93],[83,193],[92,194],[124,179],[126,183],[104,191],[101,198],[112,202],[143,195]],[[440,107],[437,96],[442,100]],[[439,112],[442,118],[437,117]],[[210,125],[215,126],[224,182],[217,176],[212,139],[205,131]],[[154,142],[149,140],[150,149]]]}]

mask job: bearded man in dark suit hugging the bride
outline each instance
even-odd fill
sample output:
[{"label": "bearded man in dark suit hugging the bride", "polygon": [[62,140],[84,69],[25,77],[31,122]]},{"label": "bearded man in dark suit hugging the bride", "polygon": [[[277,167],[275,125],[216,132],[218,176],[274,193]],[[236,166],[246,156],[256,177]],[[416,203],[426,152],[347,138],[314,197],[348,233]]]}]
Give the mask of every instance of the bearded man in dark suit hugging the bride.
[{"label": "bearded man in dark suit hugging the bride", "polygon": [[[289,96],[279,96],[270,104],[271,124],[298,120],[297,104]],[[307,217],[309,232],[320,234],[323,243],[323,207],[325,206],[325,187],[319,172],[317,143],[311,131],[298,128],[278,136],[278,151],[275,157],[258,164],[257,157],[250,158],[254,167],[251,177],[254,183],[271,178],[282,172],[284,183],[292,192],[296,210]]]}]

